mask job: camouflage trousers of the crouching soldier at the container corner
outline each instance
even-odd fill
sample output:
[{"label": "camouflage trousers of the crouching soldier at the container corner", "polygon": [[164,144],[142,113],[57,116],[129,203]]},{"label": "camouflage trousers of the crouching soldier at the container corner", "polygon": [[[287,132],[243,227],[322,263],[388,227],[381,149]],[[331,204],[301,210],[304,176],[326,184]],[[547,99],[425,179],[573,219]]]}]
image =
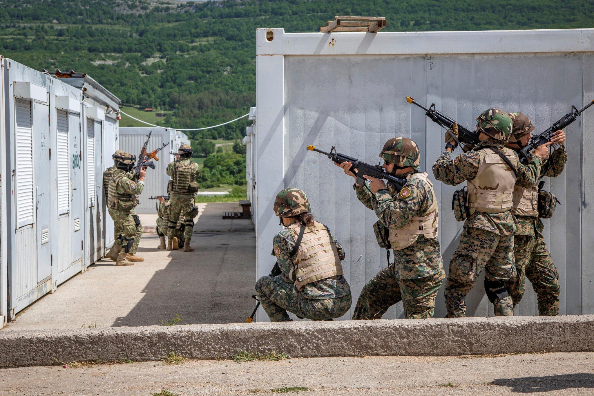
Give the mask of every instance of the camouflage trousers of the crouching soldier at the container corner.
[{"label": "camouflage trousers of the crouching soldier at the container corner", "polygon": [[262,308],[272,322],[289,321],[287,311],[312,321],[340,318],[349,311],[352,303],[350,293],[333,299],[308,299],[294,284],[286,283],[279,277],[261,277],[255,289]]}]

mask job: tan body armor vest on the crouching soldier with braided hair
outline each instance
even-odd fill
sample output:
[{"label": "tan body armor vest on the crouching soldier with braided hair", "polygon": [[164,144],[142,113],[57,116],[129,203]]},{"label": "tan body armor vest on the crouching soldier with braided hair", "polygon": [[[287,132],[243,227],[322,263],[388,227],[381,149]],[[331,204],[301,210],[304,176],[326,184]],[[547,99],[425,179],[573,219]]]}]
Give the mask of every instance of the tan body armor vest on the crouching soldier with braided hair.
[{"label": "tan body armor vest on the crouching soldier with braided hair", "polygon": [[[287,228],[297,242],[301,223],[293,223]],[[297,254],[293,256],[289,279],[294,276],[295,286],[303,290],[308,283],[342,274],[338,251],[326,226],[315,221],[312,226],[305,227]]]}]

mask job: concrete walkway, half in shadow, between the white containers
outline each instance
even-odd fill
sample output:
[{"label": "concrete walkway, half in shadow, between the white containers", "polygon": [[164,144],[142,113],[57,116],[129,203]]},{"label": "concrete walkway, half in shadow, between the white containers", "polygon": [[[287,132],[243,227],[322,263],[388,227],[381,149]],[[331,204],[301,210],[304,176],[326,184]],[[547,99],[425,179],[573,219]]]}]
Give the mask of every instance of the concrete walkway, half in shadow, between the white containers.
[{"label": "concrete walkway, half in shadow, between the white containers", "polygon": [[[176,315],[178,324],[244,322],[254,308],[254,227],[251,220],[222,219],[223,211],[238,208],[200,204],[194,252],[159,250],[156,235],[143,236],[138,255],[144,262],[115,267],[105,259],[91,265],[2,331],[159,325]],[[143,221],[151,218],[156,220],[143,215]]]}]

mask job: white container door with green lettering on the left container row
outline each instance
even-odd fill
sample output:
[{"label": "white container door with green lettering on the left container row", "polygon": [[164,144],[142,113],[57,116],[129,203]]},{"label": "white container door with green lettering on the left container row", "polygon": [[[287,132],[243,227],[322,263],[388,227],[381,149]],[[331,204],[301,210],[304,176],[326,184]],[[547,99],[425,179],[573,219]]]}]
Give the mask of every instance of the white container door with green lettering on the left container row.
[{"label": "white container door with green lettering on the left container row", "polygon": [[70,240],[71,262],[83,261],[83,221],[86,208],[83,189],[83,138],[80,131],[80,115],[68,115],[68,138],[70,145]]}]

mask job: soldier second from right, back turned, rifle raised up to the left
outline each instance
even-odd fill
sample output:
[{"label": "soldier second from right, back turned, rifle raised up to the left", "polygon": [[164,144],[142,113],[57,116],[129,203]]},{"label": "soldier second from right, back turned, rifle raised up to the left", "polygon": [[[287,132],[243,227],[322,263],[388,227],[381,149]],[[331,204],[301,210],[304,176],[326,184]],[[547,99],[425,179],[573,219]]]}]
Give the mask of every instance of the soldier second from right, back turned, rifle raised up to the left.
[{"label": "soldier second from right, back turned, rifle raised up to the left", "polygon": [[466,294],[485,269],[486,295],[495,315],[513,315],[513,305],[505,283],[516,276],[511,215],[514,185],[536,185],[542,161],[548,157],[546,145],[536,148],[527,166],[504,146],[513,122],[507,113],[487,109],[476,118],[479,144],[450,161],[456,147],[457,125],[445,134],[445,151],[433,164],[435,179],[450,185],[467,180],[466,219],[460,245],[450,260],[445,284],[447,316],[466,316]]}]

